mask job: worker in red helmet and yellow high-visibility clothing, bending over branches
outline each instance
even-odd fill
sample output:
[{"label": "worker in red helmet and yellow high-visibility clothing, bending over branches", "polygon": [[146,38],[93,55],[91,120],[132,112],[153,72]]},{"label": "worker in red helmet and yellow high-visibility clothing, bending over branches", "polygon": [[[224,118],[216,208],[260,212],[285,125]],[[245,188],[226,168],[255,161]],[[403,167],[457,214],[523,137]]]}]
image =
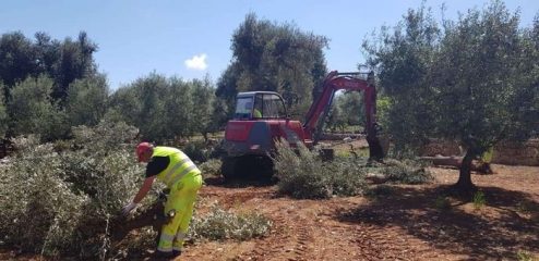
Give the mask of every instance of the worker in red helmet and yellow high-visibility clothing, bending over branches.
[{"label": "worker in red helmet and yellow high-visibility clothing, bending over branches", "polygon": [[152,188],[154,179],[165,183],[170,189],[165,213],[176,211],[173,219],[161,228],[156,256],[175,258],[181,254],[183,241],[193,214],[193,206],[202,187],[201,171],[181,150],[148,142],[136,146],[139,162],[146,162],[146,178],[133,201],[123,208],[129,214]]}]

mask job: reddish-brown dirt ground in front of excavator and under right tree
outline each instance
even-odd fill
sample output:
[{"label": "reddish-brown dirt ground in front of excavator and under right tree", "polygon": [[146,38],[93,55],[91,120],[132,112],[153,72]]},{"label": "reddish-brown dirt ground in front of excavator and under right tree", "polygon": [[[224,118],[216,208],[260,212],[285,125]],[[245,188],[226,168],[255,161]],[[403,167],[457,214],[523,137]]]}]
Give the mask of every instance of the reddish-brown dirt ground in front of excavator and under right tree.
[{"label": "reddish-brown dirt ground in front of excavator and under right tree", "polygon": [[[539,257],[539,167],[494,165],[472,175],[486,203],[436,200],[457,170],[431,169],[428,185],[392,185],[379,197],[296,200],[275,186],[208,181],[204,200],[233,211],[257,211],[274,226],[264,238],[188,246],[177,260],[517,260]],[[528,256],[528,257],[529,257]]]}]

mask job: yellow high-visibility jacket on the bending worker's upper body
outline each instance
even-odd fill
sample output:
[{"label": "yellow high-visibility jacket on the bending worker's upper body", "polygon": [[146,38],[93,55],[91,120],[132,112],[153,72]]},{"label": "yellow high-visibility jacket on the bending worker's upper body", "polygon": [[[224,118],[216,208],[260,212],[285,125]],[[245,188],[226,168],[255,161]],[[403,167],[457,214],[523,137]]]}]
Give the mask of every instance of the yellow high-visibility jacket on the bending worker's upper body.
[{"label": "yellow high-visibility jacket on the bending worker's upper body", "polygon": [[152,157],[168,157],[168,166],[157,174],[157,179],[171,188],[177,182],[185,176],[200,175],[201,171],[181,150],[170,147],[157,146],[154,148]]}]

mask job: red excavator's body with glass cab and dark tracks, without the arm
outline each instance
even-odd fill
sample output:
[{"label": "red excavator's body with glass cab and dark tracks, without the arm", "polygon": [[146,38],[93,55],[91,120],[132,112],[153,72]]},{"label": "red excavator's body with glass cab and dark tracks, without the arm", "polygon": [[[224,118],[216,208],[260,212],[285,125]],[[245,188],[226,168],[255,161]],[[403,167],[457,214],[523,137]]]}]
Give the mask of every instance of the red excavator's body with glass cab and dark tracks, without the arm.
[{"label": "red excavator's body with glass cab and dark tracks, without the arm", "polygon": [[225,178],[268,178],[275,140],[304,142],[299,121],[290,120],[280,95],[273,91],[239,92],[233,119],[225,129],[221,173]]}]

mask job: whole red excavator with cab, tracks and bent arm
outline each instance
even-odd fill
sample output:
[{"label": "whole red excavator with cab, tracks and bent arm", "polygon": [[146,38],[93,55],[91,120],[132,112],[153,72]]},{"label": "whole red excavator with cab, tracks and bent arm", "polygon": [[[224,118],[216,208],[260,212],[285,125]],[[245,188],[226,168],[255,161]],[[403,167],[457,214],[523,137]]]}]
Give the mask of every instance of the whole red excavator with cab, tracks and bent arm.
[{"label": "whole red excavator with cab, tracks and bent arm", "polygon": [[369,159],[381,161],[384,151],[376,135],[380,127],[376,123],[374,73],[333,71],[323,80],[321,92],[307,112],[303,124],[290,119],[285,101],[277,92],[237,95],[233,119],[227,123],[223,142],[221,174],[225,179],[253,177],[252,173],[256,173],[255,178],[271,177],[276,140],[284,139],[292,147],[302,142],[307,148],[313,148],[320,140],[324,120],[338,90],[363,91]]}]

